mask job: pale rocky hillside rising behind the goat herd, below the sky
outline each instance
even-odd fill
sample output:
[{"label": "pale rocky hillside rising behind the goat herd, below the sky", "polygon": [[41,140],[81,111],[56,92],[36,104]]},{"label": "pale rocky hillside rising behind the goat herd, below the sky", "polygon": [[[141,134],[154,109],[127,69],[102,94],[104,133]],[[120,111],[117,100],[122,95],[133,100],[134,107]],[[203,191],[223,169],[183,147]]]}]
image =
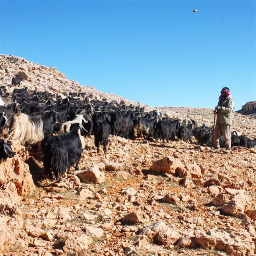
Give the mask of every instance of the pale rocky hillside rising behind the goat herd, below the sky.
[{"label": "pale rocky hillside rising behind the goat herd, below the sky", "polygon": [[[31,90],[46,90],[52,93],[86,92],[86,95],[91,96],[92,98],[106,98],[108,101],[116,101],[118,103],[123,102],[126,105],[132,104],[136,106],[144,106],[148,111],[153,109],[150,106],[142,105],[140,102],[133,102],[122,96],[116,96],[112,93],[106,94],[91,86],[82,86],[79,82],[66,79],[66,75],[57,71],[56,68],[34,64],[24,58],[12,55],[0,55],[0,75],[0,86],[10,86],[12,77],[18,75],[23,78],[21,88],[28,87]],[[13,88],[10,88],[10,92],[12,92],[12,90]],[[244,106],[247,106],[247,104]],[[251,108],[252,107],[250,107],[250,109]],[[156,109],[162,112],[164,116],[169,116],[171,118],[179,118],[180,120],[194,119],[199,125],[205,123],[207,126],[212,126],[213,124],[214,116],[212,110],[209,108],[179,108],[166,106]],[[245,110],[247,109],[248,108],[246,107]],[[238,112],[240,113],[240,111]],[[233,130],[250,138],[256,138],[256,118],[254,119],[251,116],[244,116],[241,114],[243,113],[235,113]]]}]

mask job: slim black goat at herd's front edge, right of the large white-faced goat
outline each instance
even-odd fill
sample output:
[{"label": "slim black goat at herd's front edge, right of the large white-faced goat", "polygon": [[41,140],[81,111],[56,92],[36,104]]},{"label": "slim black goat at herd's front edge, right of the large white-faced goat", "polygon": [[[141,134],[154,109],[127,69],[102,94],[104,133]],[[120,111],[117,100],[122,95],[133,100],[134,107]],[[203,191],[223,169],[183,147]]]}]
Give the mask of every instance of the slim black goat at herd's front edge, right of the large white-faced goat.
[{"label": "slim black goat at herd's front edge, right of the large white-faced goat", "polygon": [[96,120],[93,124],[94,143],[97,147],[97,153],[100,152],[100,143],[103,145],[103,150],[107,152],[108,137],[111,132],[110,125],[106,120],[109,120],[110,116],[106,113],[102,113],[96,116]]}]

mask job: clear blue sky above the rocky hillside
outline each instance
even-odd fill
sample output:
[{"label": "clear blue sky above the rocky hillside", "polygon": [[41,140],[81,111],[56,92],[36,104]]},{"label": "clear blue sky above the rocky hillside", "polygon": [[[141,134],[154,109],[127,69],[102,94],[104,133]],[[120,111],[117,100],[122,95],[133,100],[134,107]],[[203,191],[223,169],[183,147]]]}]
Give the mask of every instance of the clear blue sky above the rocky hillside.
[{"label": "clear blue sky above the rocky hillside", "polygon": [[[0,1],[0,52],[150,106],[256,100],[256,1]],[[198,12],[193,13],[192,10]]]}]

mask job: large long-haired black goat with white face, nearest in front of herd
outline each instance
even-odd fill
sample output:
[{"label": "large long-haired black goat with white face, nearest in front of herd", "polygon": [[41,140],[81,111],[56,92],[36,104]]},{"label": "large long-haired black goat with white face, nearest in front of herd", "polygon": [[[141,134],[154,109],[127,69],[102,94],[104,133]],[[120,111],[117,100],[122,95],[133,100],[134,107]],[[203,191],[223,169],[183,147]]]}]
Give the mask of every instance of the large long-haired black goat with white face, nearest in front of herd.
[{"label": "large long-haired black goat with white face, nearest in front of herd", "polygon": [[78,163],[85,147],[83,135],[82,126],[74,123],[70,127],[70,132],[50,138],[44,153],[44,169],[50,177],[53,171],[56,180],[60,182],[60,175],[64,174],[66,169],[70,173],[73,164],[78,170]]}]

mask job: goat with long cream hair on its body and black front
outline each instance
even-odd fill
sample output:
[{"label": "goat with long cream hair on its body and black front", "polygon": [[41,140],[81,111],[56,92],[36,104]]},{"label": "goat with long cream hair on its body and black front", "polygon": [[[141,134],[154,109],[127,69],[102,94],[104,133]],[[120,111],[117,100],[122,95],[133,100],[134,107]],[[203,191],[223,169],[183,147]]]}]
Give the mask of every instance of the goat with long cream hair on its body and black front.
[{"label": "goat with long cream hair on its body and black front", "polygon": [[18,114],[14,116],[10,124],[9,139],[18,139],[20,143],[37,144],[44,138],[52,136],[56,115],[46,111],[43,116],[28,116]]}]

